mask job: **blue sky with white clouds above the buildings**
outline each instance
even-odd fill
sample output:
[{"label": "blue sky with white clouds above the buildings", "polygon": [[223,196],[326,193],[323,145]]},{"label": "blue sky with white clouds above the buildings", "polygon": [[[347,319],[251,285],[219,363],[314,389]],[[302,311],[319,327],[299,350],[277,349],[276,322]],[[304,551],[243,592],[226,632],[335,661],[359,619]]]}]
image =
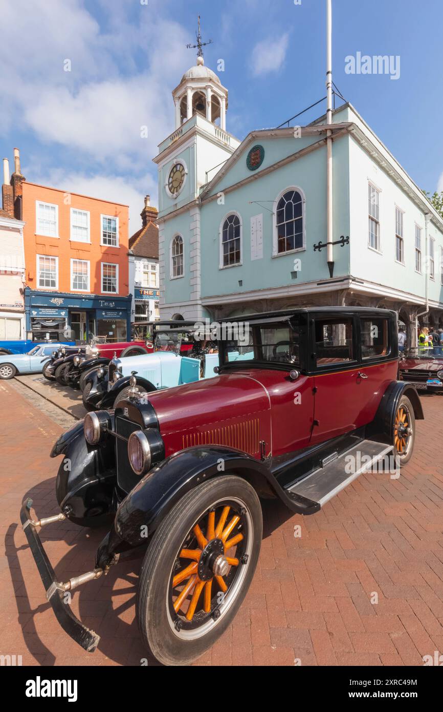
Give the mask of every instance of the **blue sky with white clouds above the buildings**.
[{"label": "blue sky with white clouds above the buildings", "polygon": [[[443,190],[442,0],[332,4],[334,83],[422,189]],[[129,204],[137,231],[198,14],[237,138],[326,94],[326,0],[0,0],[1,157],[18,147],[29,182]],[[348,73],[358,53],[395,72]]]}]

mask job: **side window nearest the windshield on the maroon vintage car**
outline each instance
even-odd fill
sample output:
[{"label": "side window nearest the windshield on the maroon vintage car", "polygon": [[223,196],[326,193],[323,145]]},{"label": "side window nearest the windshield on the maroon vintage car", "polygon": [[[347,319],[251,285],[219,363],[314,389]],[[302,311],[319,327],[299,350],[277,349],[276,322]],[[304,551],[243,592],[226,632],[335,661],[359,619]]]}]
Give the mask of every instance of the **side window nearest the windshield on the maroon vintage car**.
[{"label": "side window nearest the windshield on the maroon vintage car", "polygon": [[317,366],[353,361],[353,320],[316,319],[315,346]]}]

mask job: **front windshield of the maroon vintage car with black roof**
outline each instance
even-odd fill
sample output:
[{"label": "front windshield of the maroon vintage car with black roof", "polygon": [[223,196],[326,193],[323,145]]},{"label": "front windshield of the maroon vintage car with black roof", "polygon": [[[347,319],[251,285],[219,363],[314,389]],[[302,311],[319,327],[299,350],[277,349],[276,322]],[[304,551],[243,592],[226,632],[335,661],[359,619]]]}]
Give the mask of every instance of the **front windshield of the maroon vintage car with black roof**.
[{"label": "front windshield of the maroon vintage car with black roof", "polygon": [[299,365],[299,329],[289,324],[239,323],[235,338],[223,343],[223,363],[268,362]]}]

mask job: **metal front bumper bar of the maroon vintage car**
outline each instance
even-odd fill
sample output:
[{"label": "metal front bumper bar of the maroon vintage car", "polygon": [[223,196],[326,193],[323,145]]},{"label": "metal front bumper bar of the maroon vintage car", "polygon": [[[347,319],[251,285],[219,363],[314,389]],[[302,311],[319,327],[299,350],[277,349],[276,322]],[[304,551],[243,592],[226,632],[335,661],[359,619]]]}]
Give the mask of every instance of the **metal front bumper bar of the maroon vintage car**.
[{"label": "metal front bumper bar of the maroon vintage car", "polygon": [[53,607],[53,612],[63,630],[82,646],[88,653],[93,653],[100,641],[100,636],[93,630],[85,627],[82,622],[73,614],[68,603],[65,603],[65,590],[60,587],[53,567],[50,565],[46,551],[41,543],[40,536],[36,532],[35,523],[31,518],[32,500],[23,502],[20,511],[20,520],[26,534],[29,547],[36,561],[38,572],[41,575],[43,586],[46,590],[46,598]]}]

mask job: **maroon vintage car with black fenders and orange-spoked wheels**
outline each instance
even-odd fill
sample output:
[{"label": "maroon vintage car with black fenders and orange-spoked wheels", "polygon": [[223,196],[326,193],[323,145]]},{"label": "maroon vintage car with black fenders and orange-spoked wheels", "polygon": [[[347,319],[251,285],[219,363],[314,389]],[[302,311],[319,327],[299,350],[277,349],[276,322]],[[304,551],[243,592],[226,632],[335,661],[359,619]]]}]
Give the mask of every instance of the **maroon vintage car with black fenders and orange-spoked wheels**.
[{"label": "maroon vintage car with black fenders and orange-spoked wheels", "polygon": [[[422,406],[397,380],[397,315],[304,308],[242,317],[218,329],[218,376],[139,393],[87,414],[60,436],[60,513],[21,521],[55,616],[86,650],[99,643],[65,592],[144,547],[137,619],[163,664],[188,664],[235,617],[262,540],[260,498],[314,514],[363,472],[395,478]],[[66,466],[66,463],[69,466]],[[392,472],[392,470],[391,470]],[[90,571],[55,577],[37,533],[68,518],[112,520]]]}]

